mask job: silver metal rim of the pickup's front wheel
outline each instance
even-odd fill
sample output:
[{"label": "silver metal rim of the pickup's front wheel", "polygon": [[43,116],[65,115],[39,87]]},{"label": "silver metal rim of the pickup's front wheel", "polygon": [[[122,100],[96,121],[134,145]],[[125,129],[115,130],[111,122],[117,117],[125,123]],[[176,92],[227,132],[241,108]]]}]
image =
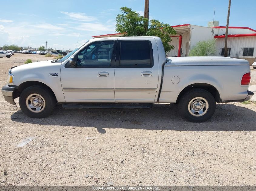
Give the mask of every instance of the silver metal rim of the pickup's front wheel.
[{"label": "silver metal rim of the pickup's front wheel", "polygon": [[26,99],[26,106],[33,113],[40,113],[45,109],[45,99],[39,94],[30,94]]}]

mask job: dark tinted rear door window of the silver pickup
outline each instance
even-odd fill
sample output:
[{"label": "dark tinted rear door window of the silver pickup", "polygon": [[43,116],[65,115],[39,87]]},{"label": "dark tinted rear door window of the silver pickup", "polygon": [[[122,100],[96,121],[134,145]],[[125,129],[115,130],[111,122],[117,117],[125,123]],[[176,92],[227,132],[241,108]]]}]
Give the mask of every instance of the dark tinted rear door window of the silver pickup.
[{"label": "dark tinted rear door window of the silver pickup", "polygon": [[147,40],[121,41],[120,66],[152,67],[151,43]]}]

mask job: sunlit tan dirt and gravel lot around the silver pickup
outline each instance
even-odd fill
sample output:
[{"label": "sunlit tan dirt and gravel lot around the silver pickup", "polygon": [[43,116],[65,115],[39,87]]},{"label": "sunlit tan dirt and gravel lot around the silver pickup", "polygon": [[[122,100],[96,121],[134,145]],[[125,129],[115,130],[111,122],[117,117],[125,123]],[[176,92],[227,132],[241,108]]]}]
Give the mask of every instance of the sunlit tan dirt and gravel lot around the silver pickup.
[{"label": "sunlit tan dirt and gravel lot around the silver pickup", "polygon": [[[28,58],[48,60],[0,58],[1,87],[8,69]],[[217,104],[209,121],[190,123],[176,104],[147,110],[57,106],[52,116],[31,119],[2,94],[0,102],[0,185],[256,185],[253,103]]]}]

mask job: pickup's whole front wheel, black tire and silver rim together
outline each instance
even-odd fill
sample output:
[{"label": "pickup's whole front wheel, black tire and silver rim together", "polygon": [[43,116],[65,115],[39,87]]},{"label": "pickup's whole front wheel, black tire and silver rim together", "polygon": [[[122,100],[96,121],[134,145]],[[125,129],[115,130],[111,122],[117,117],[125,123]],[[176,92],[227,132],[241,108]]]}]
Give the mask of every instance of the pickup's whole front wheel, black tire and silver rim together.
[{"label": "pickup's whole front wheel, black tire and silver rim together", "polygon": [[43,86],[30,86],[22,91],[19,105],[25,115],[44,118],[52,113],[56,99],[52,91]]}]

